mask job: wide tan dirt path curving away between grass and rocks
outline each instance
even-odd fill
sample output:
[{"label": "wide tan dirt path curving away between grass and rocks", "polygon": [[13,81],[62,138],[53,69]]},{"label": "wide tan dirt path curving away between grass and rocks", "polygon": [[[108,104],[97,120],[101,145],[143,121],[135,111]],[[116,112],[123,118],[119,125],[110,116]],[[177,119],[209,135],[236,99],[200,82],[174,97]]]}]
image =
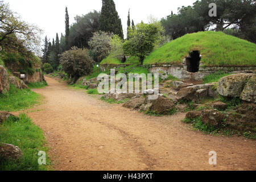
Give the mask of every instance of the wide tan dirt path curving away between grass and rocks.
[{"label": "wide tan dirt path curving away between grass and rocks", "polygon": [[150,117],[46,80],[34,90],[46,103],[28,115],[44,130],[56,170],[256,169],[254,140],[204,135],[180,122],[185,114]]}]

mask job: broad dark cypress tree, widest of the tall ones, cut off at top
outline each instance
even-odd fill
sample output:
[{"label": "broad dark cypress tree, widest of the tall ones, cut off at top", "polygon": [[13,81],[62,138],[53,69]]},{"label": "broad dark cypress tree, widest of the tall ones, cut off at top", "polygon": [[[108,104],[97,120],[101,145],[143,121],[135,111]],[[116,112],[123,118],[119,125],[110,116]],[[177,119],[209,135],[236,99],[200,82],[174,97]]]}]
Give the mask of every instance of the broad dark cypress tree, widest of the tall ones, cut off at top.
[{"label": "broad dark cypress tree, widest of the tall ones, cut off at top", "polygon": [[123,39],[123,28],[121,19],[115,9],[113,0],[102,0],[102,9],[100,16],[100,30],[113,32]]}]

